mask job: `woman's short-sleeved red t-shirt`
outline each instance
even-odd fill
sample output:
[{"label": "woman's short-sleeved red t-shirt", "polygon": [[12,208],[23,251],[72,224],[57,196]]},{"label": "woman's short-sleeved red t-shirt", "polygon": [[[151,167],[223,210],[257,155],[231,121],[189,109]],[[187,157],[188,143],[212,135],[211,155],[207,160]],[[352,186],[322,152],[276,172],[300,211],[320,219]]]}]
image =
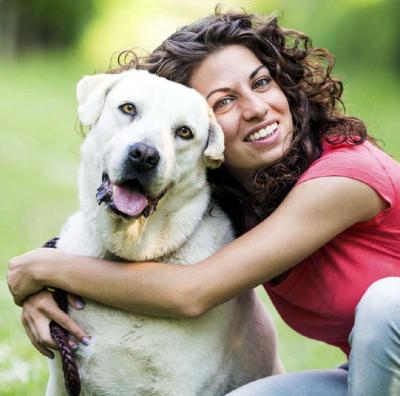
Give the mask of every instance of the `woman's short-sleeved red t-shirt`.
[{"label": "woman's short-sleeved red t-shirt", "polygon": [[[284,321],[299,333],[350,352],[357,303],[375,281],[400,276],[400,164],[369,142],[324,145],[306,180],[344,176],[372,187],[389,207],[357,223],[265,288]],[[372,319],[373,320],[373,319]]]}]

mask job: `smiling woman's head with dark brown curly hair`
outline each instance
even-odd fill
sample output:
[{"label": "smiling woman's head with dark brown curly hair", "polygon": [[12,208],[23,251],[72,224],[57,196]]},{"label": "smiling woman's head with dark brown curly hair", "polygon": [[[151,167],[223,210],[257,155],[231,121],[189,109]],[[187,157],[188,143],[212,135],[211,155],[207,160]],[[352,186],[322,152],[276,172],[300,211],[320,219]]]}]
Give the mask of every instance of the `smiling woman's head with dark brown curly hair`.
[{"label": "smiling woman's head with dark brown curly hair", "polygon": [[[218,18],[207,17],[183,27],[144,59],[139,67],[193,86],[214,107],[218,122],[224,125],[227,149],[224,167],[210,174],[210,180],[234,222],[244,221],[248,223],[245,226],[248,229],[277,208],[299,176],[321,155],[322,136],[328,138],[332,135],[331,139],[336,143],[347,141],[351,144],[364,141],[367,132],[361,120],[345,116],[341,111],[343,87],[341,81],[331,76],[334,61],[326,49],[312,48],[310,38],[303,33],[279,28],[275,16],[263,18],[248,15],[242,18],[239,13],[236,19],[235,13],[230,15],[232,18],[227,25],[220,24]],[[124,56],[120,58],[124,59]],[[244,60],[248,61],[247,65]],[[123,65],[132,66],[136,66],[135,61]],[[265,73],[260,75],[262,71]],[[240,73],[243,74],[238,78]],[[262,76],[264,79],[259,78]],[[234,94],[238,93],[234,90],[240,85],[243,91],[243,82],[247,83],[249,90],[258,94],[247,95],[247,98],[236,97]],[[272,104],[279,107],[268,116],[265,115],[268,106],[266,108],[262,100],[267,93],[268,101],[272,100]],[[285,110],[285,106],[289,108]],[[262,123],[269,125],[271,114],[276,111],[288,111],[290,114],[283,117],[284,131],[280,131],[281,128],[277,130],[275,138],[279,142],[275,147],[268,147],[261,154],[262,148],[257,149],[261,141],[254,139],[257,135],[238,138],[247,140],[251,137],[251,145],[240,146],[233,139],[238,130],[243,129],[241,116],[249,120],[255,115],[250,120],[248,131],[240,131],[249,135],[260,127],[264,128]],[[261,124],[254,125],[254,118],[260,119]],[[235,131],[235,128],[238,130]],[[285,130],[288,132],[285,133]],[[271,132],[268,130],[267,134]],[[288,139],[284,139],[286,134]],[[371,136],[368,139],[373,141]],[[272,137],[271,141],[274,141]],[[231,155],[228,148],[231,143],[234,144],[235,155]],[[282,151],[282,148],[285,150]],[[283,152],[285,155],[282,155]],[[260,162],[260,156],[265,163]],[[250,158],[250,162],[246,162],[244,168],[242,163],[234,172],[237,175],[244,173],[240,185],[243,186],[244,181],[246,189],[251,188],[251,197],[241,193],[237,178],[232,179],[231,172],[226,171],[230,166],[235,167],[243,157]],[[249,177],[251,170],[253,172]],[[230,208],[232,199],[224,196],[228,190],[230,198],[233,194],[244,211],[238,210],[235,205]],[[237,219],[243,215],[245,219]]]}]

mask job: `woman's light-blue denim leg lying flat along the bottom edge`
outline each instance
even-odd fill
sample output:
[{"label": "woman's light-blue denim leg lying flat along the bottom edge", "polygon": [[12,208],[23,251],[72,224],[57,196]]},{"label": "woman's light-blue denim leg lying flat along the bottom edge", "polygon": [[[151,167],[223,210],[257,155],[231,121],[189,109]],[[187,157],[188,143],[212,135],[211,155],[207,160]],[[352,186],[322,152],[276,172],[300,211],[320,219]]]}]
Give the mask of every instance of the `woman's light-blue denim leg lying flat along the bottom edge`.
[{"label": "woman's light-blue denim leg lying flat along the bottom edge", "polygon": [[346,396],[347,371],[343,369],[308,370],[273,375],[244,385],[228,395]]}]

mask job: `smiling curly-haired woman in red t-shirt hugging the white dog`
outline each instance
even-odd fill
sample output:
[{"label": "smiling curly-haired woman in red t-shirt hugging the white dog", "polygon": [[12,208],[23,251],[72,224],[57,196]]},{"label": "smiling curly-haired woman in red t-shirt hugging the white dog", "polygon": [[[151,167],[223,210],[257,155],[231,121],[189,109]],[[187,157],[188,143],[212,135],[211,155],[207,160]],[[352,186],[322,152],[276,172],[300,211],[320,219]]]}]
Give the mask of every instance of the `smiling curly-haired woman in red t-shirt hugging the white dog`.
[{"label": "smiling curly-haired woman in red t-shirt hugging the white dog", "polygon": [[226,160],[210,181],[240,237],[192,266],[119,266],[47,249],[13,259],[9,285],[34,345],[51,354],[50,319],[89,341],[44,286],[195,317],[264,284],[289,325],[341,348],[349,368],[276,375],[234,395],[399,394],[400,165],[339,111],[329,53],[276,18],[217,12],[140,67],[197,89],[213,109]]}]

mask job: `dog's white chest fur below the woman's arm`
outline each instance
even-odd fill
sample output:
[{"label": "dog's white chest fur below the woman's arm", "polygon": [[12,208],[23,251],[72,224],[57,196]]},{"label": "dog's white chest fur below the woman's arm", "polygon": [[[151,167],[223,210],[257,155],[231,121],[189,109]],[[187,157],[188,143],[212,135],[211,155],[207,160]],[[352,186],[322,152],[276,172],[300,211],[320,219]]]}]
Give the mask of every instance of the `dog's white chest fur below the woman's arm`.
[{"label": "dog's white chest fur below the woman's arm", "polygon": [[228,303],[190,320],[131,315],[89,304],[82,326],[93,337],[77,354],[82,394],[223,394],[231,368],[224,338],[233,310]]}]

